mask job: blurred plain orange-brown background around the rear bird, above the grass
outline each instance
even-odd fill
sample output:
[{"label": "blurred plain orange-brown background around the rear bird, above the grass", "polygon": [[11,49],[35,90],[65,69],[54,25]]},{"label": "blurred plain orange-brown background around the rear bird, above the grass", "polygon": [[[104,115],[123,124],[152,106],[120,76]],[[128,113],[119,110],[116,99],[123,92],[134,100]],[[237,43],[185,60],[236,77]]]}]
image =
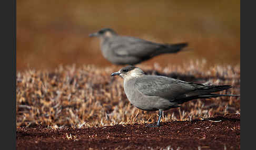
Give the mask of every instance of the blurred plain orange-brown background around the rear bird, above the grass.
[{"label": "blurred plain orange-brown background around the rear bird, above the grass", "polygon": [[111,65],[100,42],[104,27],[162,43],[189,42],[192,51],[143,62],[165,66],[194,59],[240,64],[240,1],[17,1],[17,71],[60,64]]}]

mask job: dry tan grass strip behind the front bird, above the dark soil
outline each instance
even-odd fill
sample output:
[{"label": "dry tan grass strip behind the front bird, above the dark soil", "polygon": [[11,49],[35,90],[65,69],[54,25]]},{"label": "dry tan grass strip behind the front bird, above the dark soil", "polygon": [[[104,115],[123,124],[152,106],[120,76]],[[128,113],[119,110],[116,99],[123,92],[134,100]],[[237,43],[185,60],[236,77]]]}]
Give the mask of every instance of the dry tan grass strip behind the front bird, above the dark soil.
[{"label": "dry tan grass strip behind the front bird, above the dark soil", "polygon": [[[205,61],[180,66],[138,65],[145,72],[208,84],[232,84],[222,94],[240,94],[240,66],[205,68]],[[60,66],[55,71],[17,72],[17,126],[90,127],[127,123],[152,123],[156,112],[136,109],[127,100],[123,80],[110,74],[121,67]],[[205,71],[208,70],[208,71]],[[240,98],[193,100],[183,108],[164,111],[162,122],[185,121],[227,113],[240,113]],[[56,126],[57,125],[57,126]]]}]

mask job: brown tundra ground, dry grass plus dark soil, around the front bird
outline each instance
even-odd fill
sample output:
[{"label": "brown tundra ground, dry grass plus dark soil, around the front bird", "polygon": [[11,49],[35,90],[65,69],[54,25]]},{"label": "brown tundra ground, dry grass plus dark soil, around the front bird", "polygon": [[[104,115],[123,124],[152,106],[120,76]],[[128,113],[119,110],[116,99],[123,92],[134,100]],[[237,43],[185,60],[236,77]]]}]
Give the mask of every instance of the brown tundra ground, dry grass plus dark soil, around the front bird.
[{"label": "brown tundra ground, dry grass plus dark soil, around the front bird", "polygon": [[[206,67],[137,65],[147,74],[206,84],[231,84],[221,94],[240,95],[240,65]],[[135,108],[123,80],[110,76],[120,66],[59,66],[54,71],[16,74],[17,149],[240,149],[240,97],[192,100],[164,111]]]}]

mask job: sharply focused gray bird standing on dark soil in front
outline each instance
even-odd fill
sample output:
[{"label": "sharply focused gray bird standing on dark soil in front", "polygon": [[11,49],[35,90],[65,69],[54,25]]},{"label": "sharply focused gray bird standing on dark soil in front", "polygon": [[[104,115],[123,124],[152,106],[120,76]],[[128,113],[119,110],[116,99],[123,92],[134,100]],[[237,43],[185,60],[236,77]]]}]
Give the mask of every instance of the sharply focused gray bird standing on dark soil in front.
[{"label": "sharply focused gray bird standing on dark soil in front", "polygon": [[146,75],[135,66],[124,67],[112,73],[111,76],[121,76],[124,79],[126,97],[136,108],[145,111],[159,110],[156,126],[160,126],[164,110],[181,107],[179,104],[184,102],[222,96],[240,97],[240,95],[213,93],[232,88],[231,85],[205,85],[169,77]]}]

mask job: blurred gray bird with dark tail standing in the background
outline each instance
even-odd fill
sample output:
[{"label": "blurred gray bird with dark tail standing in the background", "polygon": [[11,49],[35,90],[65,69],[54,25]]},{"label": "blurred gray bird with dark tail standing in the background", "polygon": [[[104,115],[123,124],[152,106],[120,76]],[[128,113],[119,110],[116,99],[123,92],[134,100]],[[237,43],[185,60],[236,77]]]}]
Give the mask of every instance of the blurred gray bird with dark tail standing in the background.
[{"label": "blurred gray bird with dark tail standing in the background", "polygon": [[135,65],[163,53],[176,53],[188,46],[180,44],[157,44],[140,38],[119,36],[114,30],[104,28],[89,37],[100,37],[103,56],[115,65]]}]

